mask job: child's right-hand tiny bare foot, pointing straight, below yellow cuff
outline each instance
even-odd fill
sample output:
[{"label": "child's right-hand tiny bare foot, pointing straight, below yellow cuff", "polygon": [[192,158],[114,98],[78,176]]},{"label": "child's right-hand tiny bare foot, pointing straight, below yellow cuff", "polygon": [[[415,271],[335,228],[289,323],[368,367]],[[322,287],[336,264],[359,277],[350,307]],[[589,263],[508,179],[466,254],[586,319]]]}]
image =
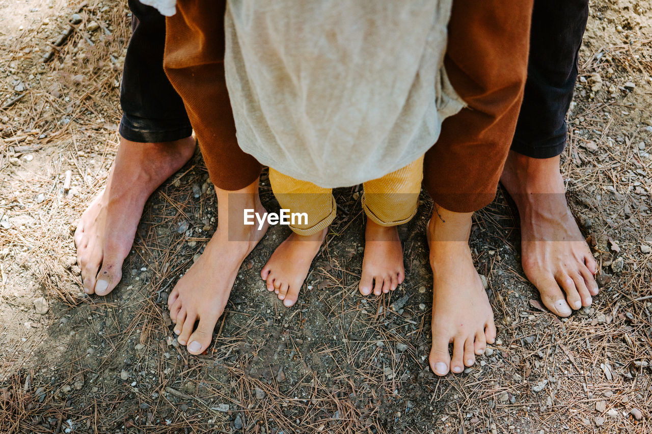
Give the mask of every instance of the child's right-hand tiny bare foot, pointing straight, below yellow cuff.
[{"label": "child's right-hand tiny bare foot, pointing straight, below yellow cuff", "polygon": [[360,293],[370,295],[394,291],[405,278],[403,247],[396,226],[381,226],[367,219],[364,230],[363,273]]}]

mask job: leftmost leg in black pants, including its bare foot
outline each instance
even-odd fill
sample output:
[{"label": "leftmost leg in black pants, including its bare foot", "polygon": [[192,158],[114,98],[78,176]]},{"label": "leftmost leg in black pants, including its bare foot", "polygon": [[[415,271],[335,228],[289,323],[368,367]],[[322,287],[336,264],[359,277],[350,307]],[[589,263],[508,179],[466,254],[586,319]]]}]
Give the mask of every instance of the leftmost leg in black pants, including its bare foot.
[{"label": "leftmost leg in black pants, including its bare foot", "polygon": [[[85,293],[106,295],[122,277],[145,201],[192,156],[183,102],[163,71],[165,18],[136,0],[121,87],[120,147],[106,188],[75,231]],[[145,80],[147,78],[147,80]]]}]

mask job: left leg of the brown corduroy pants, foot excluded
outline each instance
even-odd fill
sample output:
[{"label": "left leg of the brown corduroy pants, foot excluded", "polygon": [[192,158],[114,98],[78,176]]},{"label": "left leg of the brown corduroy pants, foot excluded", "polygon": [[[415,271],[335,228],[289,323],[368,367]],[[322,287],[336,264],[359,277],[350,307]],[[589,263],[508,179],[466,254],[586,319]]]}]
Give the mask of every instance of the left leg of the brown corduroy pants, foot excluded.
[{"label": "left leg of the brown corduroy pants, foot excluded", "polygon": [[183,98],[201,154],[216,187],[240,190],[261,165],[238,146],[224,78],[226,0],[180,0],[166,20],[163,66]]}]

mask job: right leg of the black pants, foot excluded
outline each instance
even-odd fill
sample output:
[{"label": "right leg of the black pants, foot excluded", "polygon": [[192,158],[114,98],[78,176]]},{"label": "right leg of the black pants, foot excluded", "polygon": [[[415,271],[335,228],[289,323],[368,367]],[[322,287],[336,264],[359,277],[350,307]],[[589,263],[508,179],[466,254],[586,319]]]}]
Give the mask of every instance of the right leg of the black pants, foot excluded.
[{"label": "right leg of the black pants, foot excluded", "polygon": [[588,0],[535,0],[527,81],[512,151],[533,158],[561,154],[577,79]]}]

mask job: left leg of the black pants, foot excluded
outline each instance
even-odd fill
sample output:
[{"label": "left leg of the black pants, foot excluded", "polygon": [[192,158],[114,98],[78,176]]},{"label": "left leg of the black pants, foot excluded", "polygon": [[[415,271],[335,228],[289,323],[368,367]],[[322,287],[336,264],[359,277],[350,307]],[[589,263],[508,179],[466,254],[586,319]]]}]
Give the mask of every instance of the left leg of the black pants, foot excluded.
[{"label": "left leg of the black pants, foot excluded", "polygon": [[138,0],[128,3],[133,32],[120,89],[120,135],[142,143],[188,137],[192,127],[183,101],[163,71],[165,17]]}]

